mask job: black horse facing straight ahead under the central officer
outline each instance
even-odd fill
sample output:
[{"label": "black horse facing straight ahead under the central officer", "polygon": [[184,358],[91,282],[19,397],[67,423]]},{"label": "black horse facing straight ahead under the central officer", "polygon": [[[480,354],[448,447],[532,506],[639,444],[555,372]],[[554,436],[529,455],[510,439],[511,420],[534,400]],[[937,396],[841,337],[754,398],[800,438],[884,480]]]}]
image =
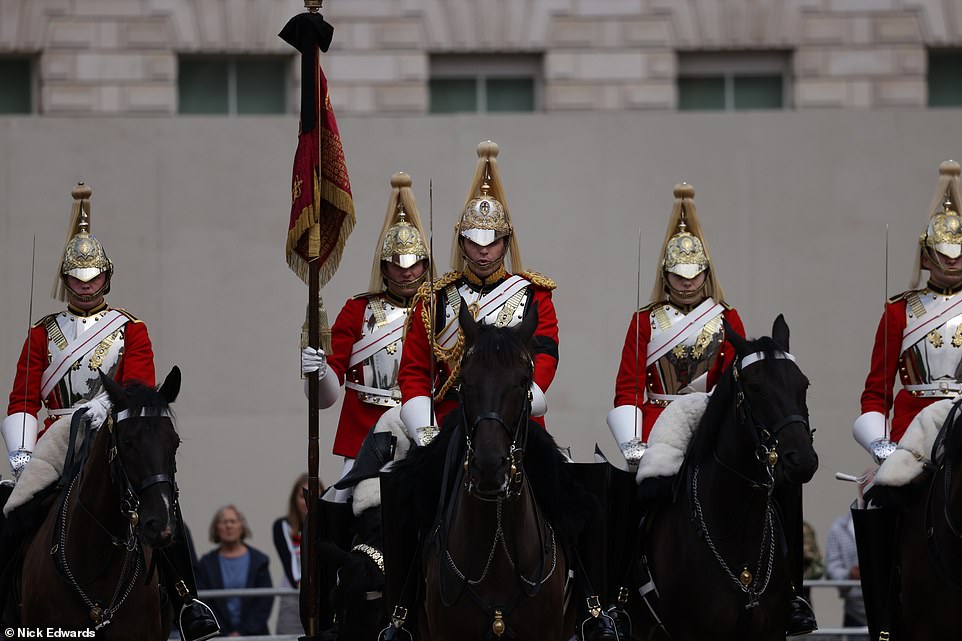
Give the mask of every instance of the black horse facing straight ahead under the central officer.
[{"label": "black horse facing straight ahead under the central officer", "polygon": [[537,315],[496,328],[477,324],[462,303],[459,322],[461,409],[397,470],[412,485],[434,477],[433,493],[412,488],[415,500],[434,502],[424,508],[420,638],[567,641],[565,509],[577,512],[590,497],[569,491],[557,445],[529,418]]}]

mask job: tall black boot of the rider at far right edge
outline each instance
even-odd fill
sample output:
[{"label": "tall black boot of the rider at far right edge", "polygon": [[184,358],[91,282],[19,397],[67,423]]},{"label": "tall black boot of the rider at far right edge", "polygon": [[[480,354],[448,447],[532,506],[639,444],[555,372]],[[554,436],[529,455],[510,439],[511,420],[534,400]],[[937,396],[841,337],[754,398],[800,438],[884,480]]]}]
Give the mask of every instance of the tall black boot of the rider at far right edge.
[{"label": "tall black boot of the rider at far right edge", "polygon": [[899,511],[895,507],[867,510],[853,506],[852,521],[869,638],[897,641]]}]

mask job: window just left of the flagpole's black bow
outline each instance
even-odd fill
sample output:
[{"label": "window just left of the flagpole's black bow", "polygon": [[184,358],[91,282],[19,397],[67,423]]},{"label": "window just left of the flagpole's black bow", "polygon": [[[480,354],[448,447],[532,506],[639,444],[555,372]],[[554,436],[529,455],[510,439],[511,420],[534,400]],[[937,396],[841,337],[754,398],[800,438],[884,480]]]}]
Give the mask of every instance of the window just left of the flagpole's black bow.
[{"label": "window just left of the flagpole's black bow", "polygon": [[178,111],[287,113],[290,61],[287,56],[182,56],[177,74]]}]

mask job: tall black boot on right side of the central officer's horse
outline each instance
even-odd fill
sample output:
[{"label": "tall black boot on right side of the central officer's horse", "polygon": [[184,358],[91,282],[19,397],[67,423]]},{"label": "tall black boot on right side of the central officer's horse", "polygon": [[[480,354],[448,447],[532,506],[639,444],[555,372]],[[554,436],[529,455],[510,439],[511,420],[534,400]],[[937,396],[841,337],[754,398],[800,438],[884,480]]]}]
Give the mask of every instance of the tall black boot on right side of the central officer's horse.
[{"label": "tall black boot on right side of the central officer's horse", "polygon": [[[608,582],[608,523],[604,506],[609,501],[611,466],[607,463],[568,463],[575,477],[598,498],[600,509],[582,531],[574,552],[574,569],[585,617],[575,630],[581,641],[621,641],[616,618],[604,604],[610,603]],[[627,640],[624,640],[627,641]]]}]

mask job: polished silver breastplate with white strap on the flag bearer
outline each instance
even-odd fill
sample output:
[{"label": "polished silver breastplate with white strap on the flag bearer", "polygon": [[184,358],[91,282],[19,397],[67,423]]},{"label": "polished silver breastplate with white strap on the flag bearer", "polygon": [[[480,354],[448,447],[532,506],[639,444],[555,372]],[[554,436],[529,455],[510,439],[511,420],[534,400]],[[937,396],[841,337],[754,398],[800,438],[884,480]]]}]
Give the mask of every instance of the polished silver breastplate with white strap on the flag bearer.
[{"label": "polished silver breastplate with white strap on the flag bearer", "polygon": [[[378,343],[378,349],[362,361],[363,385],[345,384],[354,389],[364,403],[384,407],[401,404],[397,375],[401,367],[403,319],[408,311],[407,307],[395,305],[381,296],[368,299],[361,325],[361,339],[355,344],[355,349],[371,341]],[[395,326],[400,327],[401,331],[390,331],[389,328]],[[392,340],[395,335],[396,340]]]}]

